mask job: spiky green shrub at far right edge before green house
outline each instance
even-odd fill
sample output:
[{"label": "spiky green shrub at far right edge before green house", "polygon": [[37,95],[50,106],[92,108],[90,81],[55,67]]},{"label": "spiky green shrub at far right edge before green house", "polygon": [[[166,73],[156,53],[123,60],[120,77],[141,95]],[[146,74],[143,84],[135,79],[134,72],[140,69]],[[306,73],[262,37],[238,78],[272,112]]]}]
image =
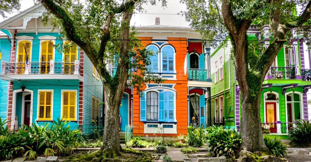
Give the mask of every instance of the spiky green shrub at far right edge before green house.
[{"label": "spiky green shrub at far right edge before green house", "polygon": [[298,120],[296,128],[288,132],[290,145],[295,147],[311,147],[311,122],[310,120]]}]

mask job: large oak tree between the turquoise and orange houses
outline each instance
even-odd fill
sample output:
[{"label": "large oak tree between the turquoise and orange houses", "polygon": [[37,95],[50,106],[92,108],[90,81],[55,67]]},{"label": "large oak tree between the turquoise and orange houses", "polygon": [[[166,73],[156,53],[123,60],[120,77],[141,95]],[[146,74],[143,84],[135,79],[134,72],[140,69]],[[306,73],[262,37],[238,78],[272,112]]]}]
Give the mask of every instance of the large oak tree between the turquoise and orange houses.
[{"label": "large oak tree between the turquoise and orange houses", "polygon": [[[159,0],[38,0],[48,10],[44,22],[62,28],[64,39],[77,44],[91,60],[105,90],[104,139],[101,150],[105,157],[119,155],[119,107],[128,86],[142,91],[145,82],[162,82],[163,79],[148,72],[149,55],[153,53],[141,46],[130,31],[134,11],[143,11],[142,4],[152,5]],[[161,0],[165,6],[166,1]],[[130,41],[131,40],[131,41]],[[64,48],[66,49],[66,48]],[[107,64],[118,65],[114,76]],[[128,78],[131,78],[128,80]]]}]

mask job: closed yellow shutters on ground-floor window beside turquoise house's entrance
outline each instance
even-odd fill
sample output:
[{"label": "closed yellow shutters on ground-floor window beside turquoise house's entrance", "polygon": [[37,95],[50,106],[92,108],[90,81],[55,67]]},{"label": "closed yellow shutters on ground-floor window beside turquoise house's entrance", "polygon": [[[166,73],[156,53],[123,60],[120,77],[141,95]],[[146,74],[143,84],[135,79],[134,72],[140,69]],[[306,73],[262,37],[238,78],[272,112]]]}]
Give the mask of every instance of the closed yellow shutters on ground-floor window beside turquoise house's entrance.
[{"label": "closed yellow shutters on ground-floor window beside turquoise house's entrance", "polygon": [[51,120],[52,111],[52,91],[39,92],[39,120]]}]

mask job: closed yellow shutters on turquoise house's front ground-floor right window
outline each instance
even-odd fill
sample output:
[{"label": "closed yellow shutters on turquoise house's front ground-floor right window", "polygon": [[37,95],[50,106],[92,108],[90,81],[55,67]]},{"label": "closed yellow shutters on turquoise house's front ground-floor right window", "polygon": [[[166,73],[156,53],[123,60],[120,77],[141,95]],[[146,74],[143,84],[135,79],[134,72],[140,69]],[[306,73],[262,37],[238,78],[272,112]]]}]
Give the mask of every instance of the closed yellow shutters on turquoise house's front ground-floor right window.
[{"label": "closed yellow shutters on turquoise house's front ground-floor right window", "polygon": [[76,120],[76,92],[63,92],[63,120]]}]

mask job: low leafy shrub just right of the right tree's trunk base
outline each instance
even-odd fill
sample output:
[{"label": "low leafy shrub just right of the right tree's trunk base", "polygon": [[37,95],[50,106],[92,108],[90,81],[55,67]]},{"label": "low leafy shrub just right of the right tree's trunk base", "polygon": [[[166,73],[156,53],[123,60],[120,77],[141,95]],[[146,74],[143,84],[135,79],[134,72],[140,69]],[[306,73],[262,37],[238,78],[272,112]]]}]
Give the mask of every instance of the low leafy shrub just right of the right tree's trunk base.
[{"label": "low leafy shrub just right of the right tree's trunk base", "polygon": [[268,149],[271,151],[272,155],[277,157],[284,157],[287,154],[288,147],[284,145],[280,139],[272,139],[265,137],[263,138],[263,141],[265,142]]}]

